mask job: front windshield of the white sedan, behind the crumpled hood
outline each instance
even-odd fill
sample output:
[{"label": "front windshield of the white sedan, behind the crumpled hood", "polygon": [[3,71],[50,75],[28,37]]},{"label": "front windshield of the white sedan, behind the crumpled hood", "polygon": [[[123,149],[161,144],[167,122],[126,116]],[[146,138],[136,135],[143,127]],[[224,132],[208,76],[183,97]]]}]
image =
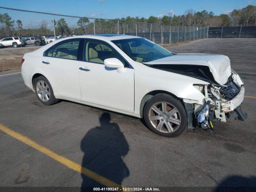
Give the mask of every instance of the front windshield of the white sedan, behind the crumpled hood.
[{"label": "front windshield of the white sedan, behind the crumpled hood", "polygon": [[158,44],[144,38],[113,40],[112,42],[137,62],[149,62],[173,55]]}]

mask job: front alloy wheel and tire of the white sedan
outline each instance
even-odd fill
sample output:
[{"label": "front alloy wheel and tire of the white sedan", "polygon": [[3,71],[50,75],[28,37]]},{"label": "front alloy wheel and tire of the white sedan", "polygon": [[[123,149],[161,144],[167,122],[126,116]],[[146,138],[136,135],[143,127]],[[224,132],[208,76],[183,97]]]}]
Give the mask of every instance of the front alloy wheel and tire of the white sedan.
[{"label": "front alloy wheel and tire of the white sedan", "polygon": [[148,128],[161,136],[176,137],[187,128],[186,110],[182,103],[166,94],[153,96],[143,111]]}]

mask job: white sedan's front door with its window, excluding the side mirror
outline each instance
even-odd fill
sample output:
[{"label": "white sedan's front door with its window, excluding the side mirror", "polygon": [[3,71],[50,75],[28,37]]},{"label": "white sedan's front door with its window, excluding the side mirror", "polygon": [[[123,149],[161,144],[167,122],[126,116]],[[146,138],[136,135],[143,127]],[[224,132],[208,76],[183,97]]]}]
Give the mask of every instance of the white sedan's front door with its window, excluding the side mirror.
[{"label": "white sedan's front door with its window, excluding the side mirror", "polygon": [[[120,72],[107,68],[104,59],[118,58],[125,66]],[[84,61],[79,63],[82,100],[102,106],[134,111],[134,69],[105,42],[85,40]]]}]

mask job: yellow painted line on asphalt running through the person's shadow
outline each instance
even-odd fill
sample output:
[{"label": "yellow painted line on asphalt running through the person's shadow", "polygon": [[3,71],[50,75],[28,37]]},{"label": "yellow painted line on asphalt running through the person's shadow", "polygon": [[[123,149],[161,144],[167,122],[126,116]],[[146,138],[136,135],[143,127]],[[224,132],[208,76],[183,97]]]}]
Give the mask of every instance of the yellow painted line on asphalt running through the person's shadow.
[{"label": "yellow painted line on asphalt running through the person's shadow", "polygon": [[17,140],[20,140],[21,142],[35,148],[36,150],[46,154],[50,158],[53,158],[54,160],[64,164],[68,168],[70,168],[76,172],[79,172],[80,174],[83,174],[104,186],[122,187],[119,184],[116,184],[115,182],[112,182],[112,181],[108,180],[107,178],[104,178],[103,176],[100,176],[100,175],[94,173],[93,171],[88,170],[87,168],[84,168],[81,165],[79,165],[75,162],[72,162],[71,160],[68,160],[67,158],[65,158],[63,156],[60,156],[60,155],[54,153],[53,151],[45,148],[44,146],[37,144],[36,142],[32,141],[30,138],[23,136],[13,130],[10,130],[9,128],[7,128],[6,126],[4,126],[2,124],[0,124],[0,130],[5,132],[6,134],[16,138]]}]

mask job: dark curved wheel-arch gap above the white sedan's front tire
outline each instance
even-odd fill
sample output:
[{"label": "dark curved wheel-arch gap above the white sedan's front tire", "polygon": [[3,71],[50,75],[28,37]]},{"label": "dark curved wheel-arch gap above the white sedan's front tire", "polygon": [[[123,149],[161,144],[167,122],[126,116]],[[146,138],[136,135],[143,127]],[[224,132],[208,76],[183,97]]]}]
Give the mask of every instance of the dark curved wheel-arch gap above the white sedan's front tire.
[{"label": "dark curved wheel-arch gap above the white sedan's front tire", "polygon": [[181,98],[177,97],[176,95],[172,94],[171,92],[164,91],[164,90],[154,90],[154,91],[148,92],[142,98],[142,100],[140,102],[140,117],[143,117],[143,110],[144,110],[144,106],[145,106],[146,102],[158,94],[166,94],[166,95],[172,96],[173,98],[176,98],[177,100],[179,100],[182,103],[182,105],[184,106],[183,100]]}]

